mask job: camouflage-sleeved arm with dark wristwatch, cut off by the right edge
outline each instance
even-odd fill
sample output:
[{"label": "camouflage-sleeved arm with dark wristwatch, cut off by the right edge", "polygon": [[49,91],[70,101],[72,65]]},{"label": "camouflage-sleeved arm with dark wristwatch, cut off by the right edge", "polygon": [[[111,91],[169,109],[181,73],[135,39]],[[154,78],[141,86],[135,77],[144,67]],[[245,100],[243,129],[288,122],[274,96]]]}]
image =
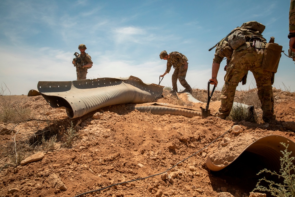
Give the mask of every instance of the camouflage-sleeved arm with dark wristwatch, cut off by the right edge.
[{"label": "camouflage-sleeved arm with dark wristwatch, cut off by the right edge", "polygon": [[290,12],[289,12],[289,35],[288,38],[290,49],[295,52],[295,0],[290,2]]}]

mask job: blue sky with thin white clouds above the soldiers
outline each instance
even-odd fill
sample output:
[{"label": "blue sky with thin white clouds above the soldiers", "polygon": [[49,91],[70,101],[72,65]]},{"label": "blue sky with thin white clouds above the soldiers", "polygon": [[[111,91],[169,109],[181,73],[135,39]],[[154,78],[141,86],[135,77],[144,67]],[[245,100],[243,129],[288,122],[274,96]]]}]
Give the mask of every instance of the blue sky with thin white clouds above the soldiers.
[{"label": "blue sky with thin white clouds above the soldiers", "polygon": [[[189,59],[188,83],[206,89],[215,52],[209,48],[244,22],[265,25],[263,36],[274,36],[288,54],[289,7],[289,0],[0,1],[1,87],[6,95],[27,95],[39,81],[76,80],[72,59],[83,43],[94,62],[87,79],[132,75],[158,84],[167,63],[160,52],[178,51]],[[273,87],[294,92],[294,63],[282,53]],[[172,74],[161,85],[171,87]],[[249,72],[237,90],[255,87]]]}]

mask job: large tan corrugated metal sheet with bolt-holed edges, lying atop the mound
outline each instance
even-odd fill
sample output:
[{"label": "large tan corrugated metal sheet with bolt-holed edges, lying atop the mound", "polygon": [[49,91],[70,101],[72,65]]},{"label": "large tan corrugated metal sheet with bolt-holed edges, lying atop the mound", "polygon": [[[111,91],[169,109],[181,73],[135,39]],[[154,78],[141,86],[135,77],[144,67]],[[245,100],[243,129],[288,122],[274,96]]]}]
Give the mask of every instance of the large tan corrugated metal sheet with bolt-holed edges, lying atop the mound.
[{"label": "large tan corrugated metal sheet with bolt-holed edges, lying atop the mound", "polygon": [[[40,95],[51,107],[64,107],[69,118],[109,105],[152,102],[161,97],[163,87],[143,83],[135,76],[38,83]],[[36,95],[36,90],[28,93],[28,96]]]}]

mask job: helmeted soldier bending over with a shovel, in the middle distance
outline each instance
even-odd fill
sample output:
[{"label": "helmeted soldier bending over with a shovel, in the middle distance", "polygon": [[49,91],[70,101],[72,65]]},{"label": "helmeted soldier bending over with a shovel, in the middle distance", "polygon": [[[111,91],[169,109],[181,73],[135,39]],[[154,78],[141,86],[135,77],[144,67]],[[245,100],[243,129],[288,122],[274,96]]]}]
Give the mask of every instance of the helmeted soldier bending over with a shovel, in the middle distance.
[{"label": "helmeted soldier bending over with a shovel, in the middle distance", "polygon": [[174,73],[172,74],[172,91],[173,95],[176,95],[177,91],[177,79],[179,80],[180,84],[185,87],[182,92],[191,92],[191,86],[186,82],[186,71],[188,68],[188,59],[185,55],[179,52],[171,52],[167,54],[167,51],[162,51],[160,53],[160,59],[167,60],[167,69],[164,74],[160,75],[161,77],[165,76],[167,73],[170,72],[171,67],[173,66]]}]

